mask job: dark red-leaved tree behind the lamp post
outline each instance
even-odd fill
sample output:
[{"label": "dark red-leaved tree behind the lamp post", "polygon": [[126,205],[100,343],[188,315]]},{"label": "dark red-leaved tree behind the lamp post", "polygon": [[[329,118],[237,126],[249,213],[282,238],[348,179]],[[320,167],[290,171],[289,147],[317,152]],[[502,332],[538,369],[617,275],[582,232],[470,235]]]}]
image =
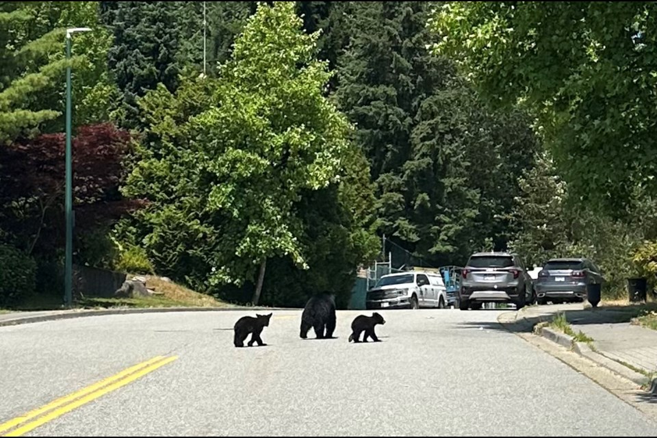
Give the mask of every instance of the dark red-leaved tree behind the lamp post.
[{"label": "dark red-leaved tree behind the lamp post", "polygon": [[[77,129],[71,142],[76,235],[142,205],[119,192],[130,144],[130,134],[111,123]],[[65,151],[64,133],[0,148],[0,228],[28,253],[64,246]]]}]

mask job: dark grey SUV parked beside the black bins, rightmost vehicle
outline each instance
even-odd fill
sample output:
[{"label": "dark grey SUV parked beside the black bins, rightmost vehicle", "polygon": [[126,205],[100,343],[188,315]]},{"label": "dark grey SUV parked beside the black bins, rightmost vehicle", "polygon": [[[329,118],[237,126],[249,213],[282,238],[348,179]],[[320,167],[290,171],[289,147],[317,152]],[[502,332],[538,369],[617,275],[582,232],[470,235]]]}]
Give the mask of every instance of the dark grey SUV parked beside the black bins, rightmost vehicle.
[{"label": "dark grey SUV parked beside the black bins, rightmost vehicle", "polygon": [[550,259],[534,286],[537,303],[582,302],[587,298],[587,284],[603,282],[600,269],[589,259]]}]

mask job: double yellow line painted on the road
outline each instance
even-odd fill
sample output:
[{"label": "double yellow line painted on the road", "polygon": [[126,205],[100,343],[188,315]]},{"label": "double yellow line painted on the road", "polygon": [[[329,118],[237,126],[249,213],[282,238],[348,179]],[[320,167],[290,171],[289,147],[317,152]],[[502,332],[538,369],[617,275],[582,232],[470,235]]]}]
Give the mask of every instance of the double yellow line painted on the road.
[{"label": "double yellow line painted on the road", "polygon": [[[148,361],[138,363],[118,374],[114,374],[112,377],[105,378],[93,385],[75,391],[72,394],[68,394],[68,396],[57,398],[57,400],[53,400],[53,402],[46,404],[44,407],[34,409],[21,417],[16,417],[8,422],[0,424],[0,434],[5,434],[2,435],[3,437],[20,437],[21,435],[28,433],[30,430],[38,428],[42,424],[46,424],[67,412],[73,411],[73,409],[81,407],[83,404],[91,402],[96,398],[123,387],[132,381],[136,381],[138,378],[149,374],[149,372],[153,372],[157,370],[157,368],[175,361],[176,359],[178,359],[177,356],[157,356]],[[46,415],[40,417],[42,414]],[[36,420],[33,420],[35,418]],[[18,428],[16,428],[17,426]],[[8,432],[8,430],[11,431]]]}]

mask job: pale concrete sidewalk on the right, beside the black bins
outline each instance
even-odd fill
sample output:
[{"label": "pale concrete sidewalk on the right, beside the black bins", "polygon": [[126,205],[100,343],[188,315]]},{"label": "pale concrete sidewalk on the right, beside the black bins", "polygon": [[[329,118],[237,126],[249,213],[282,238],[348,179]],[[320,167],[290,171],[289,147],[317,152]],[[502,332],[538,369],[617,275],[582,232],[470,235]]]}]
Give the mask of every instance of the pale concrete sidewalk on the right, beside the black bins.
[{"label": "pale concrete sidewalk on the right, beside the black bins", "polygon": [[[593,339],[577,339],[554,329],[541,329],[541,335],[558,344],[571,346],[580,355],[631,378],[642,385],[657,378],[657,331],[630,324],[636,311],[627,307],[585,309],[582,304],[526,307],[519,312],[500,315],[502,324],[531,331],[541,322],[550,322],[557,313],[564,313],[575,333],[582,332]],[[541,324],[543,325],[543,324]]]}]

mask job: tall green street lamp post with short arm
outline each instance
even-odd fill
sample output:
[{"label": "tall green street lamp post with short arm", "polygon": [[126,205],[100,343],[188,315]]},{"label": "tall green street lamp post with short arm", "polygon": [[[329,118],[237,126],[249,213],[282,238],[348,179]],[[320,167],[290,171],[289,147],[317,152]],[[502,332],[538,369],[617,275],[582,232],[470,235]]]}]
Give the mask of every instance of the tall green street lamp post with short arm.
[{"label": "tall green street lamp post with short arm", "polygon": [[88,32],[88,27],[66,29],[66,266],[64,272],[64,305],[73,304],[73,163],[70,147],[70,36]]}]

